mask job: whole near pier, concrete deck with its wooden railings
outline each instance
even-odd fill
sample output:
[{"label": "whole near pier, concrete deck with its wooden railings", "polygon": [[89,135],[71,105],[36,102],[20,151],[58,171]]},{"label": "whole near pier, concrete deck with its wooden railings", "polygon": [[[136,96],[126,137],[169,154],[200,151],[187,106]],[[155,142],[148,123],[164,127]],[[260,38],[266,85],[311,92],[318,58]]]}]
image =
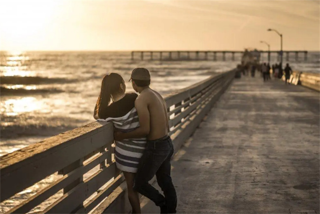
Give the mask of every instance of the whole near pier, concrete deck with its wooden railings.
[{"label": "whole near pier, concrete deck with its wooden railings", "polygon": [[[297,72],[285,85],[234,79],[235,72],[165,96],[178,213],[320,213],[320,76]],[[7,213],[27,213],[50,197],[41,213],[130,212],[108,122],[3,155],[0,170],[1,202],[60,176]],[[141,207],[160,212],[145,197]]]}]

